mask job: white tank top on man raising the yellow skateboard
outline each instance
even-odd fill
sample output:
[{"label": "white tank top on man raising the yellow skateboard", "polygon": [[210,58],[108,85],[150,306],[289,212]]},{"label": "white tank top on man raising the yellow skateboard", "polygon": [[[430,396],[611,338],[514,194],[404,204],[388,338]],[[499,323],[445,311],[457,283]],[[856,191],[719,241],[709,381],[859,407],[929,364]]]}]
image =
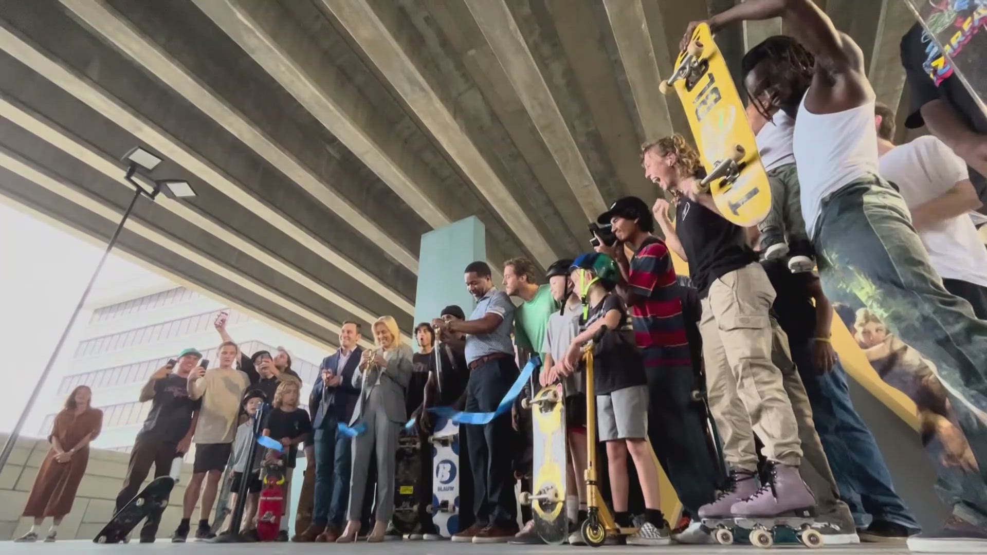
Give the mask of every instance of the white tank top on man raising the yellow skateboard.
[{"label": "white tank top on man raising the yellow skateboard", "polygon": [[798,107],[793,150],[809,238],[823,200],[869,174],[878,175],[873,104],[872,100],[835,114],[812,114],[803,98]]}]

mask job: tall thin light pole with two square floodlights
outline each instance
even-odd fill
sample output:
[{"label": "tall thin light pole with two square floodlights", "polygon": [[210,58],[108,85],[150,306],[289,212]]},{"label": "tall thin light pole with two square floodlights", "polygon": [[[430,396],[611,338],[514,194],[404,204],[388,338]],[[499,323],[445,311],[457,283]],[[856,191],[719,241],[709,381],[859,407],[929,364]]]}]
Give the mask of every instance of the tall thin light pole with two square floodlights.
[{"label": "tall thin light pole with two square floodlights", "polygon": [[96,283],[96,278],[99,278],[100,271],[103,270],[103,265],[107,262],[107,257],[110,256],[110,251],[114,250],[116,240],[119,238],[120,232],[123,231],[123,225],[126,223],[127,218],[130,217],[130,212],[133,211],[133,207],[137,203],[137,198],[140,198],[140,196],[143,195],[153,201],[159,193],[164,193],[168,198],[187,198],[195,196],[195,192],[192,191],[189,183],[185,181],[137,181],[134,179],[134,175],[138,173],[145,176],[149,175],[151,171],[153,171],[154,168],[161,163],[161,160],[161,157],[139,146],[134,147],[123,156],[123,161],[128,164],[126,175],[123,179],[133,186],[133,198],[130,199],[130,204],[127,205],[126,211],[123,212],[123,217],[120,218],[119,224],[116,225],[114,235],[110,238],[110,242],[107,243],[107,248],[103,251],[103,257],[100,258],[100,263],[96,265],[96,270],[93,272],[93,276],[89,278],[89,283],[86,285],[86,289],[82,292],[82,297],[79,298],[79,303],[76,304],[75,310],[72,312],[72,317],[69,318],[68,324],[62,331],[61,337],[58,338],[58,343],[55,345],[55,349],[51,353],[51,357],[48,358],[48,363],[45,364],[44,369],[41,370],[41,375],[38,376],[38,383],[35,384],[35,389],[31,392],[31,397],[28,399],[28,403],[25,405],[24,411],[21,412],[21,416],[17,419],[17,425],[14,426],[14,430],[3,444],[3,451],[0,451],[0,469],[3,469],[3,467],[7,464],[7,459],[10,457],[11,451],[14,450],[14,445],[17,443],[17,438],[21,436],[21,429],[24,428],[24,423],[28,420],[28,415],[31,413],[31,409],[34,408],[35,402],[38,400],[38,393],[41,391],[41,386],[44,385],[45,379],[47,379],[48,374],[51,372],[51,367],[54,366],[55,360],[61,353],[62,347],[65,345],[65,339],[68,337],[69,331],[72,330],[72,326],[75,324],[76,318],[79,317],[79,312],[82,311],[82,307],[86,304],[86,299],[89,298],[89,293],[93,289],[93,284]]}]

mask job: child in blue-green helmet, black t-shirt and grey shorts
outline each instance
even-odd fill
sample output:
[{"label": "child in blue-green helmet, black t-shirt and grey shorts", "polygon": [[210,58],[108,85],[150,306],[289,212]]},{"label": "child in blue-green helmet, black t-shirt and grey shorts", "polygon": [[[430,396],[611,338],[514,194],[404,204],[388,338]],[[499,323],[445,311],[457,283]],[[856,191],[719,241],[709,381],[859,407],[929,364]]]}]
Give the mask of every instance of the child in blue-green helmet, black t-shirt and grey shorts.
[{"label": "child in blue-green helmet, black t-shirt and grey shorts", "polygon": [[671,542],[668,522],[658,509],[658,468],[647,442],[647,385],[644,360],[635,345],[633,331],[621,298],[613,291],[620,275],[607,255],[579,256],[571,267],[571,279],[582,297],[583,317],[579,335],[569,344],[565,366],[573,371],[582,346],[601,326],[603,336],[593,352],[593,386],[600,441],[607,446],[614,517],[620,526],[632,526],[628,512],[627,454],[631,453],[645,495],[645,521],[627,538],[632,545],[665,545]]}]

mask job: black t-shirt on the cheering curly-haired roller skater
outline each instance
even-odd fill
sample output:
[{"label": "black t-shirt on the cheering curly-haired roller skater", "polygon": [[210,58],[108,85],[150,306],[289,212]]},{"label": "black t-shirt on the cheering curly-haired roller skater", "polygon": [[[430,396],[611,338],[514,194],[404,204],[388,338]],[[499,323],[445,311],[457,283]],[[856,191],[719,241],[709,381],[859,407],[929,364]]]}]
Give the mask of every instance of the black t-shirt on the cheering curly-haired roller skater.
[{"label": "black t-shirt on the cheering curly-haired roller skater", "polygon": [[717,278],[757,261],[757,255],[744,241],[743,228],[699,202],[688,198],[678,201],[675,230],[689,259],[689,276],[700,298],[706,298]]}]

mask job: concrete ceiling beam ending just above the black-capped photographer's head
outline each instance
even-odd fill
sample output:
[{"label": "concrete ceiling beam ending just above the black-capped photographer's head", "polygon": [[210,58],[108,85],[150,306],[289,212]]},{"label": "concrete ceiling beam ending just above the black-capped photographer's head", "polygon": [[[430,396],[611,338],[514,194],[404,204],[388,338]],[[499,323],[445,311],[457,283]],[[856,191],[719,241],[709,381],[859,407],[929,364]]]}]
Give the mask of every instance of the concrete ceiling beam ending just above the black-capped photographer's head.
[{"label": "concrete ceiling beam ending just above the black-capped photographer's head", "polygon": [[606,210],[606,203],[507,4],[503,0],[466,0],[466,4],[566,176],[583,213],[595,218]]}]

